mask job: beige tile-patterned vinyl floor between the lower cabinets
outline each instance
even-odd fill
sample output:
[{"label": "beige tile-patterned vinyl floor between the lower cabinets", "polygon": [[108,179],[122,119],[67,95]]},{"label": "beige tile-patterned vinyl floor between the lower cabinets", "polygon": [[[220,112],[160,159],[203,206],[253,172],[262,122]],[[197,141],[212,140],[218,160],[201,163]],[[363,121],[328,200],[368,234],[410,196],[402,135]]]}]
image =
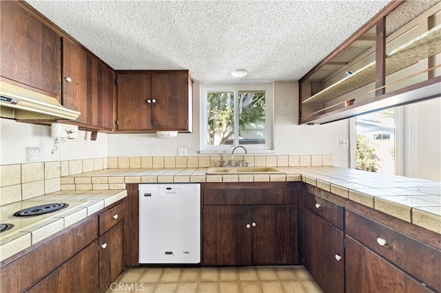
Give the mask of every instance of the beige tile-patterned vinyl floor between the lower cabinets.
[{"label": "beige tile-patterned vinyl floor between the lower cabinets", "polygon": [[131,268],[107,293],[320,293],[302,265]]}]

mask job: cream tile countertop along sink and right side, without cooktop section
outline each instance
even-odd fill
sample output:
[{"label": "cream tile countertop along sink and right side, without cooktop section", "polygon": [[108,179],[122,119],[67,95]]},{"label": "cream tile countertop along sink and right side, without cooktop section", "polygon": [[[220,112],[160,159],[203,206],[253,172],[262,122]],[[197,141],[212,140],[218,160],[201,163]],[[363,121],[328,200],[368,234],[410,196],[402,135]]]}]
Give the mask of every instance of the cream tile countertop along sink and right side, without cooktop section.
[{"label": "cream tile countertop along sink and right side, without cooktop section", "polygon": [[126,183],[303,181],[441,234],[441,182],[332,166],[278,167],[280,174],[205,175],[207,168],[106,169],[61,178],[62,189],[125,188]]}]

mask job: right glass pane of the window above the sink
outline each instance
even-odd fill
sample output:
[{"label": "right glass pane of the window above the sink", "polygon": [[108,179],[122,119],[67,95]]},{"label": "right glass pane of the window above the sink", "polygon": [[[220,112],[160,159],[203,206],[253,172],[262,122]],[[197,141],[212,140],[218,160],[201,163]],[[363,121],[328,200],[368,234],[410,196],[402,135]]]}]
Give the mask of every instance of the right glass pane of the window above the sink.
[{"label": "right glass pane of the window above the sink", "polygon": [[265,144],[265,91],[239,91],[239,144]]}]

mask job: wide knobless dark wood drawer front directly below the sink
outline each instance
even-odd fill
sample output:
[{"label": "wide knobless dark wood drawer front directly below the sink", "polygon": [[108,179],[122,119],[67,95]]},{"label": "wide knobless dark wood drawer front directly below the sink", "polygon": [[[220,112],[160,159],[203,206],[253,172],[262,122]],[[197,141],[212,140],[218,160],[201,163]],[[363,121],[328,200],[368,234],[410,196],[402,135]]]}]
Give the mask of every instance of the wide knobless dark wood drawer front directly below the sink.
[{"label": "wide knobless dark wood drawer front directly below the sink", "polygon": [[287,184],[254,182],[252,184],[205,184],[203,204],[251,205],[297,204],[297,189]]}]

